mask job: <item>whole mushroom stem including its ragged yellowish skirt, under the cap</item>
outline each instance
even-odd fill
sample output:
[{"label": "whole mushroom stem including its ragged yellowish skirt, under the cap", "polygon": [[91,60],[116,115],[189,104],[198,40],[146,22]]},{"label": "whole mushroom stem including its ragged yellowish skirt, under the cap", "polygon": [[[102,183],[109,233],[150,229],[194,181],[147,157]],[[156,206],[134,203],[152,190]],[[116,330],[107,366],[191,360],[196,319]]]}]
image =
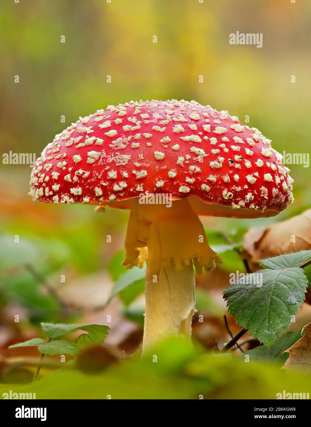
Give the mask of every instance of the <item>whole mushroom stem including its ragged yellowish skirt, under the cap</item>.
[{"label": "whole mushroom stem including its ragged yellowish skirt, under the cap", "polygon": [[[209,247],[203,225],[188,199],[136,200],[130,213],[122,265],[142,267],[146,259],[143,352],[165,336],[191,336],[195,276],[221,258]],[[159,199],[157,199],[159,201]],[[147,251],[144,249],[148,247]]]}]

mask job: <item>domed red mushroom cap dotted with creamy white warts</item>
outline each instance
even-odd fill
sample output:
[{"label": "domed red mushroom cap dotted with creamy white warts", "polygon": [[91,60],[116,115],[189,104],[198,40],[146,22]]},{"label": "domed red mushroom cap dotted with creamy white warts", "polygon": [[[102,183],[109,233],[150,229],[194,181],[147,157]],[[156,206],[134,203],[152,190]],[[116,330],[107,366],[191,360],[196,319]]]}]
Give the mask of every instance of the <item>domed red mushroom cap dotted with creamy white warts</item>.
[{"label": "domed red mushroom cap dotted with creamy white warts", "polygon": [[131,101],[56,135],[32,170],[29,194],[45,203],[131,208],[142,194],[166,193],[190,197],[199,214],[272,216],[293,200],[288,171],[270,140],[227,111]]}]

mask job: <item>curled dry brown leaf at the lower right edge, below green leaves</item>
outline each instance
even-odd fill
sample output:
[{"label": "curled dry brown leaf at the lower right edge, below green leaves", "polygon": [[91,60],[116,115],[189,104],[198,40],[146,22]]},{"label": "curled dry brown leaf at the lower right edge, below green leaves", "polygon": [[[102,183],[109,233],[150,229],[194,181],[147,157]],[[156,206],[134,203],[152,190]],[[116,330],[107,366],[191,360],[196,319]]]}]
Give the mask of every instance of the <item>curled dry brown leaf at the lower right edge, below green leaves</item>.
[{"label": "curled dry brown leaf at the lower right edge, below green leaves", "polygon": [[311,323],[302,328],[301,333],[305,334],[294,345],[285,350],[288,353],[288,360],[283,365],[284,369],[294,369],[302,374],[311,374]]}]

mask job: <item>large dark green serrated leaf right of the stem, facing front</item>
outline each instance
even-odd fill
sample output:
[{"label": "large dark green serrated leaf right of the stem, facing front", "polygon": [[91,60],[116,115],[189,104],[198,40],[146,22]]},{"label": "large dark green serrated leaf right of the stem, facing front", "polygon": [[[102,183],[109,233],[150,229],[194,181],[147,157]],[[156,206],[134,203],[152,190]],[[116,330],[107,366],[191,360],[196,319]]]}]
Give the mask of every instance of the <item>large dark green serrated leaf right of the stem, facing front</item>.
[{"label": "large dark green serrated leaf right of the stem, facing front", "polygon": [[[257,286],[258,278],[262,279],[262,286]],[[246,275],[223,293],[236,322],[271,345],[303,304],[306,286],[307,279],[298,267],[267,269]]]}]

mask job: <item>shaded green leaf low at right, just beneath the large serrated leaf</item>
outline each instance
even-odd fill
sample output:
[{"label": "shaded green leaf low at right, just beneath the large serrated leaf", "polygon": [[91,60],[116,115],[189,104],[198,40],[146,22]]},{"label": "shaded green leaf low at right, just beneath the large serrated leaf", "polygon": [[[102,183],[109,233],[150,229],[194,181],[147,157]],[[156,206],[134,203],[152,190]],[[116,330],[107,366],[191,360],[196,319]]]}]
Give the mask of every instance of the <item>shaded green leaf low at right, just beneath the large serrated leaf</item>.
[{"label": "shaded green leaf low at right, just beneath the large serrated leaf", "polygon": [[282,335],[279,339],[274,342],[271,346],[259,345],[259,347],[253,350],[245,351],[244,354],[239,356],[244,359],[245,355],[250,357],[250,361],[267,361],[267,362],[281,362],[285,363],[288,358],[288,354],[282,354],[283,351],[290,348],[298,339],[301,338],[301,329],[294,332],[289,331]]}]

